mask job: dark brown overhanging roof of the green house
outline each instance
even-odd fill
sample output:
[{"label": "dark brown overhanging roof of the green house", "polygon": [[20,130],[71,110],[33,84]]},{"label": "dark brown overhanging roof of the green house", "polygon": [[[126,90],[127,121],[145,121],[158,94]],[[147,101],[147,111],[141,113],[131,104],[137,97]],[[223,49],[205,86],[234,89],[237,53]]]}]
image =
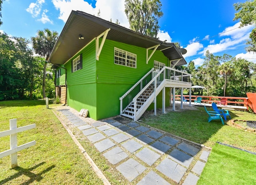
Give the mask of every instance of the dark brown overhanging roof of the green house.
[{"label": "dark brown overhanging roof of the green house", "polygon": [[[187,64],[174,43],[163,43],[156,38],[144,36],[96,16],[74,10],[72,10],[62,30],[52,53],[50,54],[48,62],[52,64],[64,64],[80,49],[86,46],[86,44],[102,34],[108,28],[110,28],[106,38],[108,40],[139,46],[142,48],[150,48],[157,44],[161,44],[157,50],[162,50],[164,55],[172,61],[172,64],[175,64],[177,62],[175,60],[180,58],[181,60],[176,64],[176,66]],[[80,34],[84,39],[78,39]]]}]

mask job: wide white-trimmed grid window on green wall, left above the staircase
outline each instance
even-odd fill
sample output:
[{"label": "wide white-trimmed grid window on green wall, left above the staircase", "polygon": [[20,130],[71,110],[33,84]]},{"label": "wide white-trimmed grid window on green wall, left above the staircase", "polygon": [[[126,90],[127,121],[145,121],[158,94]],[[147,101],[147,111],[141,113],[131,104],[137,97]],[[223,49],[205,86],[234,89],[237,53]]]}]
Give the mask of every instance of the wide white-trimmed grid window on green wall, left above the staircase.
[{"label": "wide white-trimmed grid window on green wall, left above the staircase", "polygon": [[136,68],[137,55],[115,48],[114,63],[122,66]]}]

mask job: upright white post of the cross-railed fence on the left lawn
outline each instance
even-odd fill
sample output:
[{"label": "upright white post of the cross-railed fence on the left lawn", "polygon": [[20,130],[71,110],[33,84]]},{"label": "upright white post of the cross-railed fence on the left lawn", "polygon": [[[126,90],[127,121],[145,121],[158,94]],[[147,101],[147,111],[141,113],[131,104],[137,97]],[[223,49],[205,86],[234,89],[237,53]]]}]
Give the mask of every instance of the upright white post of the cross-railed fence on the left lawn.
[{"label": "upright white post of the cross-railed fence on the left lawn", "polygon": [[[17,128],[17,119],[10,119],[10,130]],[[10,149],[16,148],[17,145],[17,133],[10,135]],[[11,154],[11,165],[12,168],[18,166],[18,155],[17,152]]]}]

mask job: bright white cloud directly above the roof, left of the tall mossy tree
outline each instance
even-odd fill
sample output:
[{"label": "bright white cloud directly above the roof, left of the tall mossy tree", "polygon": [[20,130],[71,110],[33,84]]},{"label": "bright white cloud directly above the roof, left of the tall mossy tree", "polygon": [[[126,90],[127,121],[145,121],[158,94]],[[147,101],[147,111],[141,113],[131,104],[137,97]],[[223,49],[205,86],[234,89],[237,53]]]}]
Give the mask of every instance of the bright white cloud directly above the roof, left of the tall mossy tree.
[{"label": "bright white cloud directly above the roof, left of the tall mossy tree", "polygon": [[98,16],[98,11],[100,10],[100,18],[108,21],[112,19],[112,22],[116,22],[118,19],[120,26],[129,28],[129,22],[124,13],[124,0],[97,0],[95,8],[84,0],[52,0],[52,3],[60,11],[59,19],[64,22],[67,21],[72,10],[83,11],[95,16]]}]

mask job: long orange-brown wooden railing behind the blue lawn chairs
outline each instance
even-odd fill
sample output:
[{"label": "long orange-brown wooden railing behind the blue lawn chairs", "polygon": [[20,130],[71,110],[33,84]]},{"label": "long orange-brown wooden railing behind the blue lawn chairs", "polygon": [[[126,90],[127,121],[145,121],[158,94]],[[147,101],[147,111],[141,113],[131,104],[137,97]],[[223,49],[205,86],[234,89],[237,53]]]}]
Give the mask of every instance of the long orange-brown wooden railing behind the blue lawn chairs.
[{"label": "long orange-brown wooden railing behind the blue lawn chairs", "polygon": [[[189,99],[189,95],[183,95],[185,99]],[[194,101],[196,97],[202,97],[202,102],[203,103],[209,103],[211,104],[212,102],[218,103],[221,98],[224,96],[201,96],[201,95],[191,95],[191,101]],[[244,106],[247,107],[247,97],[227,97],[225,96],[228,101],[226,101],[226,105],[237,105],[237,106]],[[180,95],[175,95],[176,100],[180,100]]]}]

